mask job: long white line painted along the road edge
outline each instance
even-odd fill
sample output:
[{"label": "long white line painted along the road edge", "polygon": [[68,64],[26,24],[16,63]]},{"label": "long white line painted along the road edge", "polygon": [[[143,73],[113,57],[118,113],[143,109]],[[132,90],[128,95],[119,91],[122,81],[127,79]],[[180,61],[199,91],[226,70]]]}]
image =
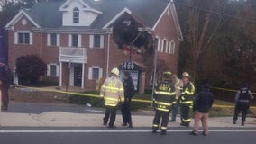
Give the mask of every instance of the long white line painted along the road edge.
[{"label": "long white line painted along the road edge", "polygon": [[[168,132],[189,132],[191,130],[168,130]],[[209,130],[210,132],[256,132],[256,130]],[[142,133],[151,130],[0,130],[0,133]]]}]

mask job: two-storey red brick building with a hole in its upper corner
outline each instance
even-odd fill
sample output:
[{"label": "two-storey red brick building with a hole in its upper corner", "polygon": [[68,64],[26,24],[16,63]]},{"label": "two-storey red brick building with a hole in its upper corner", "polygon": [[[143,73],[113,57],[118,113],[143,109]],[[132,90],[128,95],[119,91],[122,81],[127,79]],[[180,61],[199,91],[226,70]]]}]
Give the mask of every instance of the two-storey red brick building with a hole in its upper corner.
[{"label": "two-storey red brick building with a hole in its upper corner", "polygon": [[[182,40],[175,5],[167,0],[66,0],[42,2],[21,10],[5,25],[8,31],[8,62],[35,54],[48,64],[43,80],[58,81],[60,86],[96,89],[96,81],[109,76],[113,67],[131,70],[136,88],[143,91],[143,59],[118,49],[112,37],[112,24],[123,14],[136,17],[154,31],[158,57],[177,72],[179,41]],[[124,62],[124,63],[123,63]],[[123,64],[123,65],[122,65]],[[128,66],[131,64],[128,63]],[[137,78],[136,78],[137,77]]]}]

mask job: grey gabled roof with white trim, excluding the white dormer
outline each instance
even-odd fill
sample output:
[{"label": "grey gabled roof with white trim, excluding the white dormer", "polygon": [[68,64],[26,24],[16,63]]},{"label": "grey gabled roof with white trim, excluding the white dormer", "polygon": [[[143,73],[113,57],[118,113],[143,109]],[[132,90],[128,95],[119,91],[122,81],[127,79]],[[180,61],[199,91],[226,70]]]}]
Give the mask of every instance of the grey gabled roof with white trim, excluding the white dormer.
[{"label": "grey gabled roof with white trim, excluding the white dormer", "polygon": [[[63,0],[60,2],[40,2],[34,4],[30,10],[21,11],[27,17],[31,18],[31,21],[44,29],[67,29],[75,30],[80,27],[62,26],[62,13],[59,10],[64,10],[65,6],[69,4],[71,0]],[[103,29],[113,23],[123,13],[132,14],[138,18],[146,27],[154,28],[160,21],[160,17],[164,14],[170,6],[170,10],[175,22],[177,32],[182,40],[182,34],[180,31],[178,16],[176,14],[175,6],[173,3],[169,3],[169,0],[79,0],[81,4],[87,10],[94,10],[98,12],[96,20],[86,28],[87,30]],[[64,9],[63,9],[64,8]],[[21,13],[20,12],[20,13]],[[19,13],[19,14],[20,14]],[[17,15],[19,15],[17,14]],[[15,18],[10,23],[14,23]],[[8,23],[5,27],[10,26]]]}]

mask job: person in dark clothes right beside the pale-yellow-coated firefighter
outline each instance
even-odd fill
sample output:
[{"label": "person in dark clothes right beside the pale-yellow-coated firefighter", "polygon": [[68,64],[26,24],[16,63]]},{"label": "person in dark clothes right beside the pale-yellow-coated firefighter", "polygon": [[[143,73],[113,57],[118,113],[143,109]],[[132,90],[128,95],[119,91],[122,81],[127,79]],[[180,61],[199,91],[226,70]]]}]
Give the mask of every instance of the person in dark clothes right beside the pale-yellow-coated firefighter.
[{"label": "person in dark clothes right beside the pale-yellow-coated firefighter", "polygon": [[131,100],[135,93],[133,79],[129,72],[123,74],[123,88],[124,88],[124,102],[121,105],[121,112],[123,117],[123,126],[129,125],[129,128],[133,128],[132,116],[131,116]]}]

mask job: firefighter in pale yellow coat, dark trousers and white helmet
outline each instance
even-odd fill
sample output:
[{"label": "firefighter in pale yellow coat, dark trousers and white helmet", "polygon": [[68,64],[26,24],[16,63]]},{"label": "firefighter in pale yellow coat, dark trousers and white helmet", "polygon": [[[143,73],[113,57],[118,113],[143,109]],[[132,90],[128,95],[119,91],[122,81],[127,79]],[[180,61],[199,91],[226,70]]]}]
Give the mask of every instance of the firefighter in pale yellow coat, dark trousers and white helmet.
[{"label": "firefighter in pale yellow coat, dark trousers and white helmet", "polygon": [[106,125],[110,117],[108,124],[109,128],[115,128],[114,121],[117,105],[124,101],[123,83],[119,79],[119,74],[120,72],[116,67],[112,69],[111,77],[105,79],[105,82],[101,87],[101,96],[105,100],[105,117],[103,119],[103,124]]}]

